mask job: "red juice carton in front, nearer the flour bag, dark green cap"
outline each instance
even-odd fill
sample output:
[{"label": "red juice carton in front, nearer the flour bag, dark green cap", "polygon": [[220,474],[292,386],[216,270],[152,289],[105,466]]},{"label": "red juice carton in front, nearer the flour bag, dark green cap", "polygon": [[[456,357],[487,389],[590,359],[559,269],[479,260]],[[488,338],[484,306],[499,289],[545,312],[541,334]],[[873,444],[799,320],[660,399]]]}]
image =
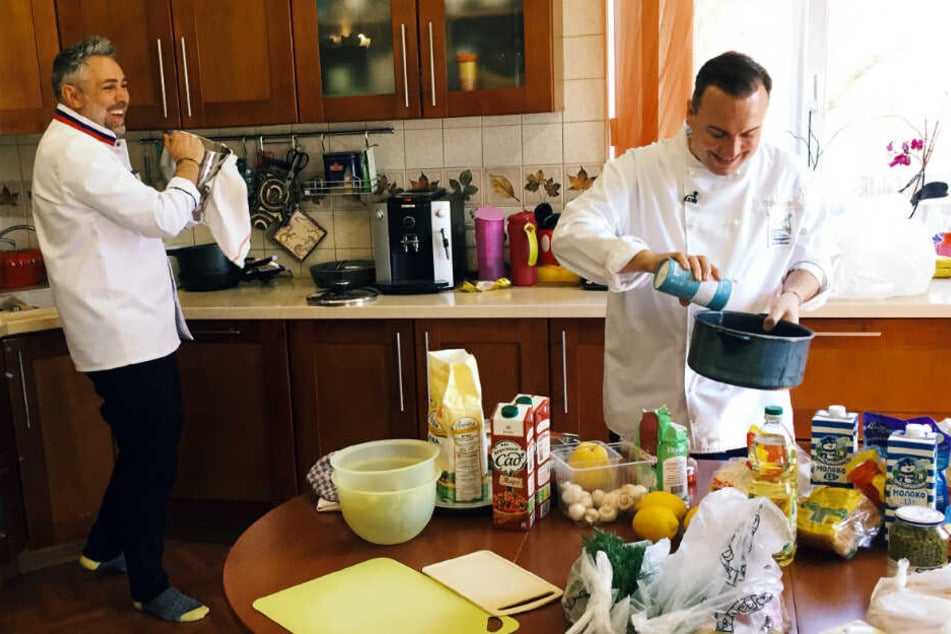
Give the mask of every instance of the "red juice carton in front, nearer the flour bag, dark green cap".
[{"label": "red juice carton in front, nearer the flour bag, dark green cap", "polygon": [[499,403],[492,416],[492,523],[528,530],[535,523],[535,424],[531,405]]}]

